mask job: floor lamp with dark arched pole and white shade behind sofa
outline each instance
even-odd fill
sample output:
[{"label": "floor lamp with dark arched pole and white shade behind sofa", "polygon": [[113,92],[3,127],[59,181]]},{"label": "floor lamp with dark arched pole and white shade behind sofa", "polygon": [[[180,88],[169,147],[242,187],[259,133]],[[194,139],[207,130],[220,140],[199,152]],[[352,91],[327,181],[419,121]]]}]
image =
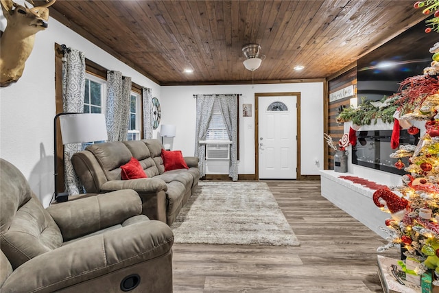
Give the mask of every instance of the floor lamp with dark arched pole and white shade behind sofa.
[{"label": "floor lamp with dark arched pole and white shade behind sofa", "polygon": [[60,130],[62,145],[67,143],[87,143],[90,141],[108,140],[107,128],[104,114],[95,113],[59,113],[54,118],[54,177],[55,177],[55,200],[56,202],[65,202],[69,194],[62,192],[58,194],[58,171],[56,159],[58,157],[56,150],[56,120],[60,120]]}]

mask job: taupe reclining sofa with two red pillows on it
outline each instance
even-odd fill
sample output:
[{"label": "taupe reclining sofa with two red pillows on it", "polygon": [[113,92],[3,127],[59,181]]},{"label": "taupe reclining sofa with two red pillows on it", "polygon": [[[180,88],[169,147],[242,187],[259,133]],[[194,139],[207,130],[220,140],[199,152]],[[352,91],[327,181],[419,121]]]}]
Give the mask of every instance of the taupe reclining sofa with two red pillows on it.
[{"label": "taupe reclining sofa with two red pillows on it", "polygon": [[[142,200],[142,213],[171,225],[198,187],[198,158],[185,157],[189,169],[165,172],[158,139],[114,141],[89,145],[72,156],[72,164],[87,193],[104,194],[134,189]],[[147,178],[121,180],[121,166],[134,157]]]}]

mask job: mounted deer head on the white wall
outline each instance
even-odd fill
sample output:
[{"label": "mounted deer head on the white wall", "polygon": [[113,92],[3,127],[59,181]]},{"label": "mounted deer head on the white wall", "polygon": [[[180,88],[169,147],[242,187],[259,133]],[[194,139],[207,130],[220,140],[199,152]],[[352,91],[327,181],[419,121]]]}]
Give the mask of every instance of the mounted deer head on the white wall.
[{"label": "mounted deer head on the white wall", "polygon": [[0,0],[3,15],[8,21],[0,41],[1,87],[21,78],[25,62],[34,48],[35,34],[47,27],[48,7],[55,1],[46,0],[45,5],[28,8],[26,4],[22,6],[12,0]]}]

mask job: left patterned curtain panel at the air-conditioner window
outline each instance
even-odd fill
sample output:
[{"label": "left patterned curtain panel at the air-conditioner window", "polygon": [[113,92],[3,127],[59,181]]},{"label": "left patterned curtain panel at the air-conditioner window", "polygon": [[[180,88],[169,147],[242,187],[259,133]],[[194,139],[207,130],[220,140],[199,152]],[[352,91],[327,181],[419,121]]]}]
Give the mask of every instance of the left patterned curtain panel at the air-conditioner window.
[{"label": "left patterned curtain panel at the air-conditioner window", "polygon": [[209,122],[213,113],[213,102],[215,102],[215,95],[197,95],[197,124],[195,125],[195,156],[198,156],[200,162],[198,168],[200,169],[200,177],[206,175],[206,148],[200,141],[206,139]]}]

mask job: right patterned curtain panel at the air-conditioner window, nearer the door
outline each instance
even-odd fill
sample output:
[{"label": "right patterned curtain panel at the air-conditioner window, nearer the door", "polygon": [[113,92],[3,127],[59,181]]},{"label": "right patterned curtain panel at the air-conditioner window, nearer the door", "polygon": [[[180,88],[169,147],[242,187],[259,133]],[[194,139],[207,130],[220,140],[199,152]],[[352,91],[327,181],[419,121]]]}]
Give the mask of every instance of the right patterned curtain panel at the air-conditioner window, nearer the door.
[{"label": "right patterned curtain panel at the air-conditioner window, nearer the door", "polygon": [[219,108],[221,108],[222,117],[227,127],[228,137],[232,141],[230,145],[230,167],[228,176],[233,181],[238,180],[238,150],[237,150],[237,127],[238,127],[238,99],[237,95],[218,95]]}]

